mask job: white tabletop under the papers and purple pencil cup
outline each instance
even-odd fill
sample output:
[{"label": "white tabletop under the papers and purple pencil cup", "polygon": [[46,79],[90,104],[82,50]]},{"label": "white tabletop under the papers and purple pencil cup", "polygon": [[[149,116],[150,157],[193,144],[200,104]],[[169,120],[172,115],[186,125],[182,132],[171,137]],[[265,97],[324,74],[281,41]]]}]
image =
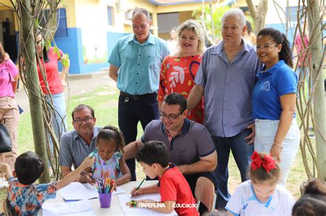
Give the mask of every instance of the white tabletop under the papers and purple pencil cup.
[{"label": "white tabletop under the papers and purple pencil cup", "polygon": [[[126,191],[120,194],[130,194],[130,191],[133,189],[133,187],[138,187],[140,182],[141,181],[127,182],[125,184],[119,185],[118,187]],[[142,187],[157,184],[157,182],[157,180],[146,180],[143,182]],[[91,202],[91,207],[93,208],[95,215],[124,215],[118,198],[118,195],[120,194],[112,195],[110,208],[100,208],[100,201],[98,200],[98,198],[89,200],[89,202]],[[55,199],[50,199],[46,202],[65,202],[65,200],[63,200],[60,193],[56,193]]]}]

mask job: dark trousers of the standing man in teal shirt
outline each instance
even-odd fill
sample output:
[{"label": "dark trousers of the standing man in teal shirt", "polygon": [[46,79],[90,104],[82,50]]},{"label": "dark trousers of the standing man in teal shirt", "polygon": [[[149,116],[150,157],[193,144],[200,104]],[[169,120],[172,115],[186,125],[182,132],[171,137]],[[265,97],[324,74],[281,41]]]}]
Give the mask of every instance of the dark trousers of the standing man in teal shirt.
[{"label": "dark trousers of the standing man in teal shirt", "polygon": [[[157,93],[141,96],[137,100],[119,96],[118,124],[126,144],[136,140],[139,121],[142,124],[142,130],[145,130],[149,122],[158,118]],[[126,160],[126,163],[131,171],[131,180],[135,181],[135,158]]]}]

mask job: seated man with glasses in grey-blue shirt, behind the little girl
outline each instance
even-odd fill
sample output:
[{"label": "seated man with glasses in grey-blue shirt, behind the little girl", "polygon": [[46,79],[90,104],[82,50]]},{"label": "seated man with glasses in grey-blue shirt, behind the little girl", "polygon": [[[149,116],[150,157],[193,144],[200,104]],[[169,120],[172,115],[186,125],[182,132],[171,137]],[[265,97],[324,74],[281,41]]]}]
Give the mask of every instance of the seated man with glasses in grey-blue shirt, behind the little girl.
[{"label": "seated man with glasses in grey-blue shirt, behind the little girl", "polygon": [[[79,167],[83,160],[96,149],[96,136],[102,130],[95,125],[94,109],[85,104],[80,104],[72,111],[72,125],[75,130],[66,132],[61,136],[59,165],[63,177]],[[79,182],[89,182],[88,175],[80,176]]]}]

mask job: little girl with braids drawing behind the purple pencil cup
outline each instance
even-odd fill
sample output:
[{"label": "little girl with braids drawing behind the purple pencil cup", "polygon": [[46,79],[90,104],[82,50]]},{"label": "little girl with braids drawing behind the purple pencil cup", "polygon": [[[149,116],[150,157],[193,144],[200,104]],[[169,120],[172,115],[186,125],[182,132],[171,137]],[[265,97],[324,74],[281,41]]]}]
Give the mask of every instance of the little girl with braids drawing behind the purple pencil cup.
[{"label": "little girl with braids drawing behind the purple pencil cup", "polygon": [[122,132],[111,125],[105,126],[96,139],[97,152],[91,152],[95,162],[91,169],[92,177],[96,179],[111,178],[116,185],[131,180],[131,173],[123,155],[124,138]]}]

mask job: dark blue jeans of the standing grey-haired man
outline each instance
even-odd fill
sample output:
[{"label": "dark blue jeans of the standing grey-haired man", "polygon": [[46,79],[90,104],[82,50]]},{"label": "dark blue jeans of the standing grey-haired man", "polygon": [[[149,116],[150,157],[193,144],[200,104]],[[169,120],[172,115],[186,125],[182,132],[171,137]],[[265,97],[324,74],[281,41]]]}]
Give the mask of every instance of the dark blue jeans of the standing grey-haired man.
[{"label": "dark blue jeans of the standing grey-haired man", "polygon": [[217,168],[213,173],[217,180],[217,208],[223,209],[230,199],[228,193],[228,159],[230,150],[235,158],[235,163],[241,174],[241,182],[248,180],[248,166],[250,156],[254,152],[254,145],[248,145],[249,140],[244,138],[252,132],[251,129],[245,129],[232,137],[212,136],[217,150]]}]

